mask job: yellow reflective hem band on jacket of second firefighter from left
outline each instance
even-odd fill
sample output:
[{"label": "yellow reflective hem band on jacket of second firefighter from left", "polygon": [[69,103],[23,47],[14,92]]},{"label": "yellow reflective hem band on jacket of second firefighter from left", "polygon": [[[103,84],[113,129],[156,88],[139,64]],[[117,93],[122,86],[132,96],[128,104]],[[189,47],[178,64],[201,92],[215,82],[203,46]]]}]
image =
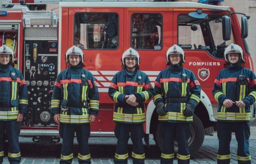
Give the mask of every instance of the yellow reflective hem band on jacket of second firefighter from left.
[{"label": "yellow reflective hem band on jacket of second firefighter from left", "polygon": [[[67,113],[67,112],[65,112],[65,113]],[[89,122],[89,114],[84,114],[84,115],[60,114],[60,122],[74,123],[74,124],[88,123]]]}]

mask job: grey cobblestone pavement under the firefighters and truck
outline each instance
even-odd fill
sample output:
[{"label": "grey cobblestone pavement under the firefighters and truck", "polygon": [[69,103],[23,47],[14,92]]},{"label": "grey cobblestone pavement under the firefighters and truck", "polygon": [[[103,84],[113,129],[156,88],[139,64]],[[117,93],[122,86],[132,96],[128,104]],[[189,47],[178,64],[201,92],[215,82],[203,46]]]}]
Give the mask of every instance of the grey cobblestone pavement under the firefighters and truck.
[{"label": "grey cobblestone pavement under the firefighters and truck", "polygon": [[[198,152],[191,157],[191,164],[216,164],[217,162],[217,151],[218,151],[218,139],[217,134],[213,137],[206,136],[204,143]],[[256,164],[256,137],[252,136],[250,139],[250,152],[252,164]],[[89,145],[91,151],[92,164],[112,164],[115,152],[116,138],[90,138]],[[35,144],[31,141],[31,138],[20,137],[20,149],[22,154],[21,164],[57,164],[59,163],[61,142],[57,144]],[[78,164],[77,154],[78,154],[78,144],[75,140],[74,142],[74,159],[73,164]],[[132,164],[131,151],[132,142],[129,140],[128,145],[129,150],[129,160],[128,164]],[[237,142],[236,139],[232,137],[231,144],[231,164],[237,164],[236,161],[236,151]],[[7,143],[4,144],[4,163],[8,163],[6,155]],[[150,139],[150,148],[145,147],[146,153],[146,164],[160,164],[159,157],[161,152],[155,145],[154,140]],[[174,164],[177,164],[177,160],[174,160]]]}]

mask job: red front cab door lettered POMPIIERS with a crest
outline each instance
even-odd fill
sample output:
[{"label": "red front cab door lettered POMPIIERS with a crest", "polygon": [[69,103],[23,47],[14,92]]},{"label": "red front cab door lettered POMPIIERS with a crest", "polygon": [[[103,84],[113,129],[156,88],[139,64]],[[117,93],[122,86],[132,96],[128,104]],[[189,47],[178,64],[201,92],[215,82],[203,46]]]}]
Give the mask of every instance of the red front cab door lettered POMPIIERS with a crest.
[{"label": "red front cab door lettered POMPIIERS with a crest", "polygon": [[201,89],[215,104],[212,87],[219,71],[226,67],[225,47],[236,42],[233,32],[230,40],[222,40],[223,13],[208,13],[208,17],[199,20],[188,16],[192,11],[174,11],[174,42],[185,51],[184,66],[195,73]]}]

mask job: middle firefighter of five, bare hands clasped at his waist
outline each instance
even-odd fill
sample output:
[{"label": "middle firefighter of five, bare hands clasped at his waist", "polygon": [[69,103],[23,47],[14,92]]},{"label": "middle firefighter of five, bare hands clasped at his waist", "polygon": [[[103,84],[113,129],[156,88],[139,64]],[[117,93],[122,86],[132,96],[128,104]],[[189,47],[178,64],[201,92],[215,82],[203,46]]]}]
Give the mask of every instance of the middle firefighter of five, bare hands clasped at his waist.
[{"label": "middle firefighter of five, bare hands clasped at his waist", "polygon": [[144,103],[152,97],[154,89],[147,75],[139,70],[140,56],[136,50],[129,48],[121,60],[123,70],[114,75],[109,87],[109,96],[116,102],[113,114],[117,138],[114,163],[127,164],[127,144],[131,133],[133,163],[144,164]]}]

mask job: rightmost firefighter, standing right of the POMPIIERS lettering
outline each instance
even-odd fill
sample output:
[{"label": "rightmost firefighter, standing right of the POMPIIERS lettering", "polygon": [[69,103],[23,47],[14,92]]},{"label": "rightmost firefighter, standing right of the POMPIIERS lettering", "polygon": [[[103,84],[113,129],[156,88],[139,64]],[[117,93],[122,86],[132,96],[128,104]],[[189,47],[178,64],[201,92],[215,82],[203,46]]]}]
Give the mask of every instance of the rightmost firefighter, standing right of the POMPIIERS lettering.
[{"label": "rightmost firefighter, standing right of the POMPIIERS lettering", "polygon": [[238,142],[238,164],[251,164],[249,136],[251,108],[256,99],[255,74],[244,67],[242,48],[230,44],[225,52],[228,67],[221,70],[214,81],[212,94],[219,103],[217,113],[217,134],[219,150],[218,164],[230,163],[231,133],[236,133]]}]

